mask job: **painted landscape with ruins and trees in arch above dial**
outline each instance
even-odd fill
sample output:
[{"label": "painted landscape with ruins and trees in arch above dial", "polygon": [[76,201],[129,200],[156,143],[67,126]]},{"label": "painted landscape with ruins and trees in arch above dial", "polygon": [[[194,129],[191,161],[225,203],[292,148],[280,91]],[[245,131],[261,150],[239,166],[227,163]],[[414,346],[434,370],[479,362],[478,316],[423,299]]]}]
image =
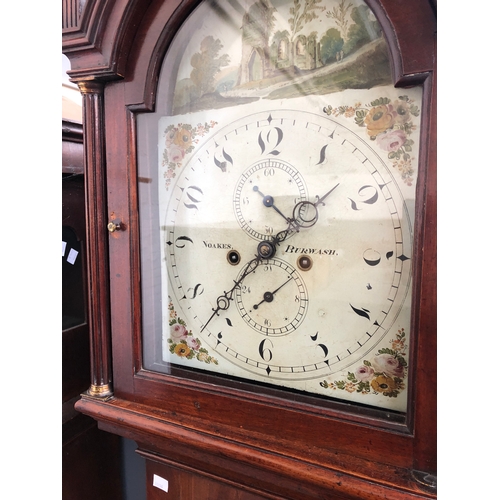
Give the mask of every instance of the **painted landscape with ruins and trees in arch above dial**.
[{"label": "painted landscape with ruins and trees in arch above dial", "polygon": [[361,0],[207,4],[183,43],[174,114],[392,82],[380,25]]}]

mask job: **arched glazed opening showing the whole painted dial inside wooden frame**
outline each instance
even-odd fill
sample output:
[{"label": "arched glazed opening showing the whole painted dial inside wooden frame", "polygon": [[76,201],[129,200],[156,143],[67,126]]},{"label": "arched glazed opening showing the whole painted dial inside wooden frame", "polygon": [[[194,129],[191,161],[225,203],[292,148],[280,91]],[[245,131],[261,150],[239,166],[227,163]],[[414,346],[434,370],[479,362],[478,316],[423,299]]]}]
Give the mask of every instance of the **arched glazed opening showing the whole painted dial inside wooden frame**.
[{"label": "arched glazed opening showing the whole painted dial inside wooden frame", "polygon": [[144,366],[404,414],[422,89],[393,87],[363,2],[220,9],[180,28],[138,117]]}]

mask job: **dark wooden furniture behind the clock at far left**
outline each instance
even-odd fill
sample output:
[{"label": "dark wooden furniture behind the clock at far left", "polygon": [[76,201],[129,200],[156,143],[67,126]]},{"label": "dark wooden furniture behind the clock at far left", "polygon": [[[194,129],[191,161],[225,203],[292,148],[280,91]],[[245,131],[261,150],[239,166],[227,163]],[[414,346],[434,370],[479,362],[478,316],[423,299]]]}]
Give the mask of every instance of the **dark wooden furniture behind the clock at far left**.
[{"label": "dark wooden furniture behind the clock at far left", "polygon": [[82,125],[63,121],[62,139],[62,498],[120,500],[119,436],[74,409],[90,373]]}]

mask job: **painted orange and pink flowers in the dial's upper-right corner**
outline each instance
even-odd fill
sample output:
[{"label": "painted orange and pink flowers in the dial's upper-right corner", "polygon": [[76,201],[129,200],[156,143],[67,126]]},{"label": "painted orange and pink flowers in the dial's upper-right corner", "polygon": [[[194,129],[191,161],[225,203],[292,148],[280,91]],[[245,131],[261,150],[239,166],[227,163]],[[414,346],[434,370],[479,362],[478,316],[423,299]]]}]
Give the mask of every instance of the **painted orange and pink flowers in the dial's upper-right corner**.
[{"label": "painted orange and pink flowers in the dial's upper-right corner", "polygon": [[343,115],[354,118],[357,125],[365,127],[370,140],[387,151],[389,160],[400,171],[403,182],[411,186],[414,181],[411,162],[415,158],[410,155],[414,145],[410,135],[417,129],[412,117],[417,117],[420,113],[413,102],[405,95],[394,100],[380,97],[365,106],[359,102],[354,106],[325,106],[323,112],[335,117]]}]

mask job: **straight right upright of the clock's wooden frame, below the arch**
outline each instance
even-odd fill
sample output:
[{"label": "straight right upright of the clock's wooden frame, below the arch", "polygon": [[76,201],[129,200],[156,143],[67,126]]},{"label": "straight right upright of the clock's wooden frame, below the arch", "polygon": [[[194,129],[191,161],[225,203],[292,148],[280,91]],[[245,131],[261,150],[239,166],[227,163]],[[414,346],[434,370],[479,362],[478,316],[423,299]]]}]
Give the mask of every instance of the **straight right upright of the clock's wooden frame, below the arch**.
[{"label": "straight right upright of the clock's wooden frame, below the arch", "polygon": [[[417,186],[417,199],[422,200],[415,226],[414,252],[418,265],[414,273],[412,304],[413,329],[409,427],[415,436],[414,468],[437,472],[437,152],[436,152],[436,72],[429,73],[424,83],[426,107],[422,123],[428,134],[421,144],[420,164],[425,175]],[[418,208],[418,207],[417,207]]]}]

